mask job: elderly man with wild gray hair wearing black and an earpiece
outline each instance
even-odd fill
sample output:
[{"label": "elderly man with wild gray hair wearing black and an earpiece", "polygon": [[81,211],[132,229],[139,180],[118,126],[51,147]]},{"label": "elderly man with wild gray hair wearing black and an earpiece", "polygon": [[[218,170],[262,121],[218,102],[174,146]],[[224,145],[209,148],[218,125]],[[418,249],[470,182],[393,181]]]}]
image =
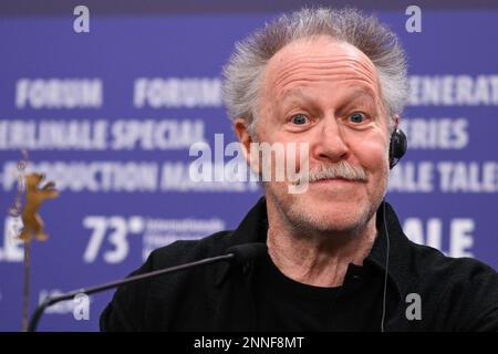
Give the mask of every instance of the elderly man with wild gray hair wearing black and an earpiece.
[{"label": "elderly man with wild gray hair wearing black and an earpiece", "polygon": [[102,330],[498,330],[497,273],[411,242],[384,201],[406,148],[406,65],[392,32],[354,10],[304,9],[239,43],[225,77],[250,166],[274,168],[250,153],[255,143],[307,144],[307,189],[267,180],[237,230],[154,251],[136,274],[268,246],[242,264],[120,288]]}]

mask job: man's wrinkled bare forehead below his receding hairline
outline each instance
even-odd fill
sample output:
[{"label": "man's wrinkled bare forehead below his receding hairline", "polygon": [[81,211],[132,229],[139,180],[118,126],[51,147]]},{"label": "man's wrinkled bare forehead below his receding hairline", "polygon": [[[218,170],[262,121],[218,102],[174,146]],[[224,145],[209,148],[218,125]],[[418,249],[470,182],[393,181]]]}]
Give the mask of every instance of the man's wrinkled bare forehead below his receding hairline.
[{"label": "man's wrinkled bare forehead below his receding hairline", "polygon": [[311,81],[350,82],[376,97],[381,94],[377,70],[369,56],[325,35],[300,39],[278,51],[264,69],[261,91],[277,97]]}]

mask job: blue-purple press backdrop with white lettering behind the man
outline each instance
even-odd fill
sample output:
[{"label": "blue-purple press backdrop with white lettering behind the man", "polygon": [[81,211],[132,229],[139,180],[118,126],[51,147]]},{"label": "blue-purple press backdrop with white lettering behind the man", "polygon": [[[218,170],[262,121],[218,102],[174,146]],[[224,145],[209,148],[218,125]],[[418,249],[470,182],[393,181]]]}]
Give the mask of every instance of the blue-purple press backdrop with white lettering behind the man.
[{"label": "blue-purple press backdrop with white lettering behind the man", "polygon": [[[302,4],[283,2],[89,1],[82,33],[81,3],[0,6],[0,330],[21,326],[23,249],[8,209],[23,148],[29,170],[61,191],[41,208],[50,239],[32,244],[31,311],[49,294],[123,278],[174,240],[237,227],[262,191],[191,181],[189,147],[210,144],[218,176],[232,160],[215,150],[215,134],[218,147],[236,140],[221,66],[236,41]],[[498,269],[498,8],[423,1],[422,32],[408,32],[409,3],[394,3],[349,2],[388,23],[409,59],[409,148],[387,200],[414,241]],[[40,330],[97,330],[112,294],[92,296],[87,317],[60,303]]]}]

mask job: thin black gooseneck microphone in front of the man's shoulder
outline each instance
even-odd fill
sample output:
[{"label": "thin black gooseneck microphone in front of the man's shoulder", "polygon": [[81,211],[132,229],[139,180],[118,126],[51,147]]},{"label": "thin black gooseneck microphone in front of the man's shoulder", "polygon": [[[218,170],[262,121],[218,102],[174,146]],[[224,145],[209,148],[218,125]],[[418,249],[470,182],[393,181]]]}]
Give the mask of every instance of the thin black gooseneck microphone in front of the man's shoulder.
[{"label": "thin black gooseneck microphone in front of the man's shoulder", "polygon": [[185,263],[185,264],[180,264],[180,266],[159,269],[159,270],[156,270],[153,272],[133,275],[133,277],[128,277],[128,278],[121,279],[121,280],[115,280],[115,281],[112,281],[112,282],[108,282],[105,284],[101,284],[101,285],[96,285],[96,287],[74,290],[74,291],[68,292],[65,294],[56,295],[56,296],[46,296],[43,300],[43,302],[34,310],[33,315],[31,316],[30,323],[28,325],[28,332],[37,331],[38,322],[40,321],[40,319],[46,308],[49,308],[58,302],[61,302],[61,301],[71,300],[74,296],[76,296],[77,294],[90,295],[90,294],[93,294],[96,292],[102,292],[102,291],[105,291],[108,289],[117,288],[123,284],[137,282],[137,281],[144,280],[144,279],[151,279],[151,278],[162,275],[162,274],[173,273],[173,272],[176,272],[179,270],[185,270],[185,269],[189,269],[189,268],[194,268],[194,267],[216,263],[219,261],[230,261],[234,266],[240,266],[251,259],[261,257],[264,253],[267,253],[267,244],[261,243],[261,242],[237,244],[237,246],[228,248],[227,253],[225,253],[222,256],[205,258],[205,259],[201,259],[201,260],[198,260],[195,262],[189,262],[189,263]]}]

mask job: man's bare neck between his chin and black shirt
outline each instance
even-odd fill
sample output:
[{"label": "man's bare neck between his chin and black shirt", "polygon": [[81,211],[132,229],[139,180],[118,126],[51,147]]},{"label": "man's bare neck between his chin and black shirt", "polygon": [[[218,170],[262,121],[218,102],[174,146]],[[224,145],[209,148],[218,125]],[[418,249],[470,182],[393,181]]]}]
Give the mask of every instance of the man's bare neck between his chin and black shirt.
[{"label": "man's bare neck between his chin and black shirt", "polygon": [[375,215],[354,235],[299,235],[283,222],[271,219],[269,215],[267,244],[273,263],[288,278],[314,287],[342,285],[347,266],[363,264],[377,233]]}]

